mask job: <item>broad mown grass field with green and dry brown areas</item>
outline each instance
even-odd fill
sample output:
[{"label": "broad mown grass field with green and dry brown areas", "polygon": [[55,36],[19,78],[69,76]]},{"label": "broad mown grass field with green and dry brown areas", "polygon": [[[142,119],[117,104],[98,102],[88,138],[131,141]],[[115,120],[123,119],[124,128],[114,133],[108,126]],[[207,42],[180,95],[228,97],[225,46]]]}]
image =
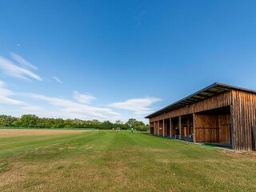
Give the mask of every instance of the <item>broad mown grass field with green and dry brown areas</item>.
[{"label": "broad mown grass field with green and dry brown areas", "polygon": [[8,131],[0,191],[256,191],[253,152],[128,131]]}]

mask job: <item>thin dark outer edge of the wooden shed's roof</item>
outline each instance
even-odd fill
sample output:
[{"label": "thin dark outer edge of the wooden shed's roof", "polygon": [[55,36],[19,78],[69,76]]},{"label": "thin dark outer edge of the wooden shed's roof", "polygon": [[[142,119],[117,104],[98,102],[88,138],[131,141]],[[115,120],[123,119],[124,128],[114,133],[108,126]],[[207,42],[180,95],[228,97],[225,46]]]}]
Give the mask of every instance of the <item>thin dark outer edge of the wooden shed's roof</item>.
[{"label": "thin dark outer edge of the wooden shed's roof", "polygon": [[245,91],[245,92],[250,92],[250,93],[256,94],[256,90],[249,90],[249,89],[245,89],[245,88],[238,87],[238,86],[230,86],[230,85],[227,85],[227,84],[224,84],[224,83],[214,82],[214,83],[211,84],[210,86],[206,86],[206,87],[203,88],[202,90],[198,90],[197,92],[195,92],[194,94],[190,94],[190,95],[187,96],[186,98],[182,98],[182,99],[178,100],[177,102],[174,102],[174,103],[170,104],[169,106],[165,106],[165,107],[163,107],[162,109],[155,111],[153,114],[147,115],[145,118],[150,118],[152,115],[158,114],[160,111],[166,110],[168,107],[174,106],[175,104],[178,104],[178,102],[182,102],[182,101],[186,100],[187,98],[191,98],[191,97],[193,97],[194,95],[199,94],[199,93],[201,93],[201,92],[203,92],[203,91],[205,91],[205,90],[208,90],[208,89],[210,89],[210,88],[213,88],[213,87],[215,87],[215,86],[222,86],[224,89],[226,88],[226,90],[241,90],[241,91]]}]

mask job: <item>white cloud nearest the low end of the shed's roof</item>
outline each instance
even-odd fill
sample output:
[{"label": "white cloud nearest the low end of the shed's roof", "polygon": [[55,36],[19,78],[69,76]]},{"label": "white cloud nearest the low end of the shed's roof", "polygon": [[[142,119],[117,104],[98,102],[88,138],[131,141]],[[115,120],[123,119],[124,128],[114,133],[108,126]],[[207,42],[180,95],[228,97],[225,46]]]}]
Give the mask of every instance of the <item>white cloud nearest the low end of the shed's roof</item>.
[{"label": "white cloud nearest the low end of the shed's roof", "polygon": [[132,98],[128,99],[125,102],[114,102],[111,103],[109,106],[122,109],[122,110],[130,110],[133,111],[134,114],[142,115],[142,114],[149,114],[152,112],[150,106],[154,102],[161,101],[160,98]]}]

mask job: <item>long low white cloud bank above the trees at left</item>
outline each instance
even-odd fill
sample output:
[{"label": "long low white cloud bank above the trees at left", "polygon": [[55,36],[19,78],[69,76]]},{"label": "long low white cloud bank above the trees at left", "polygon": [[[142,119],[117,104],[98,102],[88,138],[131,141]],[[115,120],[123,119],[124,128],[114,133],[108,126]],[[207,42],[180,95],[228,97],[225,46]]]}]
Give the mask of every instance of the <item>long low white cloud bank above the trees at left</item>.
[{"label": "long low white cloud bank above the trees at left", "polygon": [[[98,119],[114,122],[122,119],[121,115],[110,108],[89,106],[86,104],[70,101],[66,98],[48,97],[42,94],[17,93],[6,88],[6,83],[0,80],[0,113],[13,116],[23,114],[36,114],[45,118],[80,118],[84,120]],[[14,96],[26,98],[30,102],[15,100]],[[29,98],[29,99],[28,99]],[[31,99],[32,98],[32,99]],[[38,101],[46,102],[38,106]],[[4,104],[1,105],[1,104]],[[7,105],[7,107],[5,106]]]}]

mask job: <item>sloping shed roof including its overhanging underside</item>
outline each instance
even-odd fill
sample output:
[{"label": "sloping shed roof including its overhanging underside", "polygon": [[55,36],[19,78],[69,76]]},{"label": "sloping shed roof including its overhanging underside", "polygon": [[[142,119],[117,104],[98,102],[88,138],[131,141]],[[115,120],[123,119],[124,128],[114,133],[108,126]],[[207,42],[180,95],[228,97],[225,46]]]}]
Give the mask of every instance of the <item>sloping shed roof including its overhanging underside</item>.
[{"label": "sloping shed roof including its overhanging underside", "polygon": [[154,116],[157,116],[159,114],[163,114],[171,110],[177,110],[179,108],[182,108],[183,106],[189,106],[194,102],[199,102],[199,101],[202,101],[203,99],[210,98],[214,95],[222,94],[225,91],[230,91],[230,90],[241,90],[241,91],[256,94],[255,90],[247,90],[238,86],[229,86],[226,84],[215,82],[210,86],[206,86],[206,88],[202,90],[198,90],[198,92],[195,92],[194,94],[190,94],[186,98],[182,98],[181,100],[178,100],[178,102],[174,102],[169,106],[162,108],[161,110],[157,110],[153,114],[149,114],[145,118],[153,118]]}]

